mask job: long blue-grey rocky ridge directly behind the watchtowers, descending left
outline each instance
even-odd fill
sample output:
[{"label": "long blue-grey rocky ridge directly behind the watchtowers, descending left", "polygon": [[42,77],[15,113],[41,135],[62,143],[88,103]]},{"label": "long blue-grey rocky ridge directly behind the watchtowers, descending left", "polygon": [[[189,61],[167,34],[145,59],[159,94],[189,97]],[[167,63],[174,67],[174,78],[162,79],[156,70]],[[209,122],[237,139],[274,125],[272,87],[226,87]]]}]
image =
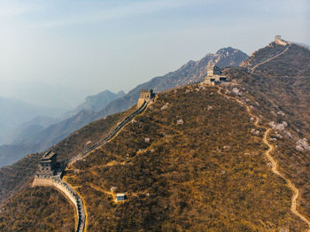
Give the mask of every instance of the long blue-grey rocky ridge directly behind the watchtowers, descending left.
[{"label": "long blue-grey rocky ridge directly behind the watchtowers, descending left", "polygon": [[[241,50],[236,50],[231,47],[223,48],[219,50],[219,52],[219,54],[208,53],[204,58],[198,61],[189,61],[174,72],[154,77],[150,81],[144,82],[136,86],[136,88],[131,89],[125,96],[113,100],[99,112],[83,110],[74,114],[74,116],[69,119],[62,120],[48,128],[43,128],[38,134],[27,136],[23,141],[23,145],[31,148],[31,150],[25,152],[47,150],[50,146],[58,143],[61,139],[64,139],[67,135],[70,135],[89,122],[99,120],[112,113],[127,110],[129,107],[136,104],[140,89],[162,91],[190,82],[201,81],[203,77],[205,77],[208,62],[212,61],[214,64],[219,64],[221,67],[239,66],[244,58],[248,57]],[[9,155],[10,153],[7,152],[3,156]]]}]

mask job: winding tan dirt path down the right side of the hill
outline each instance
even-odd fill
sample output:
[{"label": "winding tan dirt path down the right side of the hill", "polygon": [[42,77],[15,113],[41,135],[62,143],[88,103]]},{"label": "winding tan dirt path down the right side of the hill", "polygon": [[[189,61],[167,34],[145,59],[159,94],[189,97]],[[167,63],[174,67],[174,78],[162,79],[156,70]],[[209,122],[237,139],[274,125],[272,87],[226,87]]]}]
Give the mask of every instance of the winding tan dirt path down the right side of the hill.
[{"label": "winding tan dirt path down the right side of the hill", "polygon": [[[280,54],[279,54],[280,55]],[[278,176],[280,176],[281,178],[283,178],[283,180],[289,185],[291,191],[293,192],[293,196],[291,197],[291,212],[294,213],[296,216],[298,216],[299,219],[303,220],[306,222],[306,224],[308,225],[308,228],[306,229],[305,232],[310,232],[310,221],[306,219],[306,217],[304,215],[302,215],[301,213],[298,212],[297,210],[297,199],[298,199],[298,195],[299,195],[299,190],[295,187],[295,185],[291,182],[291,180],[287,177],[285,177],[284,174],[280,173],[278,170],[278,163],[275,161],[275,159],[270,155],[271,152],[275,151],[275,146],[273,144],[270,144],[268,142],[268,137],[271,131],[271,128],[266,128],[264,126],[260,126],[260,118],[258,116],[256,116],[255,114],[252,113],[251,111],[251,107],[247,104],[244,104],[244,102],[240,101],[239,99],[237,99],[236,97],[229,97],[223,93],[221,93],[221,87],[218,87],[218,93],[223,96],[226,97],[228,99],[232,99],[235,100],[238,104],[243,105],[246,108],[246,112],[248,112],[248,114],[255,119],[254,125],[257,128],[263,128],[265,129],[265,133],[264,133],[264,138],[263,138],[263,143],[265,143],[268,146],[268,150],[265,152],[265,155],[267,157],[267,159],[269,160],[269,162],[271,163],[271,169],[272,172]]]}]

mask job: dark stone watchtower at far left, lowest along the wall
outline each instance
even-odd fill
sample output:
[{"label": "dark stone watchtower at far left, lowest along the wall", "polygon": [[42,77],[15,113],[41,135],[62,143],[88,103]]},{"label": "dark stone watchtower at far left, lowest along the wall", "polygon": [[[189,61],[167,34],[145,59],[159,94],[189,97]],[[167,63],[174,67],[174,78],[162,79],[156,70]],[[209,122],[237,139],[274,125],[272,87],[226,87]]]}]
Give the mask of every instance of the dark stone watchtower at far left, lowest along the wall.
[{"label": "dark stone watchtower at far left, lowest along the wall", "polygon": [[48,151],[39,160],[39,169],[35,174],[35,178],[51,178],[56,174],[56,169],[57,153]]}]

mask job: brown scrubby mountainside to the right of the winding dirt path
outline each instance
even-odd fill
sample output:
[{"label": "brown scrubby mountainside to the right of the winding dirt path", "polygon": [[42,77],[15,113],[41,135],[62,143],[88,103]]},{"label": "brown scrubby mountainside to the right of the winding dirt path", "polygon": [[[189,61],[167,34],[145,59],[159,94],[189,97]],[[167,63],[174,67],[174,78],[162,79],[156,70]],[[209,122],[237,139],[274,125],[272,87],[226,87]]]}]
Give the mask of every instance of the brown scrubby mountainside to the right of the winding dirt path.
[{"label": "brown scrubby mountainside to the right of the winding dirt path", "polygon": [[298,151],[299,139],[310,141],[310,50],[291,44],[289,50],[248,73],[244,69],[226,70],[243,99],[262,115],[264,124],[287,123],[283,130],[274,130],[275,159],[281,172],[299,189],[298,210],[310,219],[310,151]]}]

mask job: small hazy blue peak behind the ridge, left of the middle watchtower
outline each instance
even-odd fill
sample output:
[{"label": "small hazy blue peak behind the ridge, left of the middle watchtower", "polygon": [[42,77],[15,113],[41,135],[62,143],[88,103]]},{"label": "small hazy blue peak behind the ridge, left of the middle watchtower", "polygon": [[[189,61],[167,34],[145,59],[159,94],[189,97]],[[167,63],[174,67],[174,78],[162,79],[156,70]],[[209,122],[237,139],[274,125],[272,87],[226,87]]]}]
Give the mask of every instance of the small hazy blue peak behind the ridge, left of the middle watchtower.
[{"label": "small hazy blue peak behind the ridge, left of the middle watchtower", "polygon": [[66,120],[81,111],[98,112],[102,110],[107,104],[111,103],[112,100],[123,97],[124,95],[124,91],[113,93],[109,90],[105,90],[98,93],[97,95],[86,97],[82,104],[79,104],[74,110],[66,112],[61,116],[61,119]]}]

